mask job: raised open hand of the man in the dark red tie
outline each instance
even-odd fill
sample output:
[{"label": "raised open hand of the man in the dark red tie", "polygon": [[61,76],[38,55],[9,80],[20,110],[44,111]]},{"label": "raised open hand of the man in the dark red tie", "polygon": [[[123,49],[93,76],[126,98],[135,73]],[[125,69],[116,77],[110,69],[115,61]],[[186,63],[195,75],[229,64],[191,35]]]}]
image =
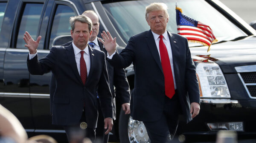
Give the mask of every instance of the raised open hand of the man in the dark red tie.
[{"label": "raised open hand of the man in the dark red tie", "polygon": [[36,49],[38,48],[41,38],[41,36],[38,36],[38,39],[34,41],[34,39],[30,36],[29,32],[25,32],[23,39],[26,42],[25,47],[29,49],[30,54],[36,53]]}]

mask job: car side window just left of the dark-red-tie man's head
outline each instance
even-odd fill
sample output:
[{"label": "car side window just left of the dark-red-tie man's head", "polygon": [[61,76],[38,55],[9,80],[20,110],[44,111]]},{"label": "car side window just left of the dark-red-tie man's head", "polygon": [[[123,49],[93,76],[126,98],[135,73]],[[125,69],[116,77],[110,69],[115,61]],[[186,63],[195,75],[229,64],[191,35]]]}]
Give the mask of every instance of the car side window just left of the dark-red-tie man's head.
[{"label": "car side window just left of the dark-red-tie man's head", "polygon": [[76,13],[72,8],[65,5],[58,5],[52,23],[51,38],[49,48],[52,47],[53,40],[61,35],[70,35],[71,26],[69,23],[70,17],[75,16]]}]

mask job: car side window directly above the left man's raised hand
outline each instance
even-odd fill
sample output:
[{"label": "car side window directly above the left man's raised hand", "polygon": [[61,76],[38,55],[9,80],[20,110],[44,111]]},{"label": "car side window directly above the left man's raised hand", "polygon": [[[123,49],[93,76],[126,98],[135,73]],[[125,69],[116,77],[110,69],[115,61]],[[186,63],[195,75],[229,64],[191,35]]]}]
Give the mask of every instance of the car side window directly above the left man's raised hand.
[{"label": "car side window directly above the left man's raised hand", "polygon": [[16,44],[17,48],[26,48],[24,46],[26,43],[23,40],[25,31],[28,31],[34,40],[37,39],[42,8],[43,4],[41,3],[26,3],[20,21],[20,28]]}]

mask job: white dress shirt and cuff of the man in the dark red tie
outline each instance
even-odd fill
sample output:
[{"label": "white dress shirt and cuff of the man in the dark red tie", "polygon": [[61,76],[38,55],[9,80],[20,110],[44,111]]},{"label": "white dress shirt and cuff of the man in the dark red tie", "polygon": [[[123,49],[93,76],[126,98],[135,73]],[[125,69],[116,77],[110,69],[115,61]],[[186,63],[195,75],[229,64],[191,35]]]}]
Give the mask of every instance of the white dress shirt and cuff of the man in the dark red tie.
[{"label": "white dress shirt and cuff of the man in the dark red tie", "polygon": [[[72,42],[73,45],[73,49],[74,49],[74,53],[75,53],[75,59],[76,59],[76,66],[80,75],[80,58],[81,58],[81,54],[80,54],[80,49],[76,47],[76,45],[74,44],[74,42]],[[29,53],[29,60],[33,59],[36,56],[37,53],[35,54],[30,54]],[[86,68],[87,68],[87,77],[89,75],[90,72],[90,53],[89,53],[89,48],[88,46],[86,46],[84,48],[84,60],[86,63]]]}]

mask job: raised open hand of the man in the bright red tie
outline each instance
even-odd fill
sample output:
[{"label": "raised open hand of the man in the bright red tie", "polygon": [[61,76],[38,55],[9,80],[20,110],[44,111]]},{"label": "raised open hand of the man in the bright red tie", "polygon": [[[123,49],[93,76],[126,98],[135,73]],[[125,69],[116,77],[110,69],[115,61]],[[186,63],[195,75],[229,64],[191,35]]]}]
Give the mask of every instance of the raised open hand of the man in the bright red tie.
[{"label": "raised open hand of the man in the bright red tie", "polygon": [[105,46],[105,49],[108,51],[108,54],[111,56],[116,51],[116,37],[113,39],[111,34],[107,31],[102,32],[102,39],[99,39],[100,42]]}]

